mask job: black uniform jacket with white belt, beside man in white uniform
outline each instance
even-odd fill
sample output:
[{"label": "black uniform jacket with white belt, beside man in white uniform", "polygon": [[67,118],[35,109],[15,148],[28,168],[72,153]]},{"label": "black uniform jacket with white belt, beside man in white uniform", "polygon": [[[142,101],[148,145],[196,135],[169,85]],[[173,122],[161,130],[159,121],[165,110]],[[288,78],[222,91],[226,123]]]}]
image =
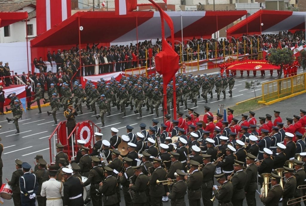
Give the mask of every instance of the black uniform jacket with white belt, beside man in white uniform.
[{"label": "black uniform jacket with white belt, beside man in white uniform", "polygon": [[[68,206],[81,206],[84,204],[83,200],[83,186],[79,178],[69,177],[66,182],[64,182],[64,197],[63,203]],[[69,200],[69,197],[76,197],[82,194],[82,196]]]}]

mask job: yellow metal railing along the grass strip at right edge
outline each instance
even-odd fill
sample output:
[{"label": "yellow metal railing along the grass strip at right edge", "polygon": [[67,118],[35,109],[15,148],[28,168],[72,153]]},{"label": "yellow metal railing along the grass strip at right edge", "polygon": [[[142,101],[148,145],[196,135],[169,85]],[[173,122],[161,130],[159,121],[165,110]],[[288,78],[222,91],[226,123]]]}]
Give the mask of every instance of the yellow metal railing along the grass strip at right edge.
[{"label": "yellow metal railing along the grass strip at right edge", "polygon": [[262,84],[263,101],[280,98],[306,89],[306,73]]}]

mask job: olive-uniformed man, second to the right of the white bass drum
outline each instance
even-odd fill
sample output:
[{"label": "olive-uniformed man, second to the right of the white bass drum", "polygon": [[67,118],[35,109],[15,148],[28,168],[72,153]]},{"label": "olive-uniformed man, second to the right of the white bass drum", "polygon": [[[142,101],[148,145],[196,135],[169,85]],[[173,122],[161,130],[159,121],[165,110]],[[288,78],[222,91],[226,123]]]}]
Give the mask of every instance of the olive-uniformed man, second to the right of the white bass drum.
[{"label": "olive-uniformed man, second to the right of the white bass drum", "polygon": [[108,166],[104,167],[104,181],[100,182],[100,193],[103,194],[103,205],[115,206],[119,203],[116,194],[117,180],[112,176],[113,169]]}]

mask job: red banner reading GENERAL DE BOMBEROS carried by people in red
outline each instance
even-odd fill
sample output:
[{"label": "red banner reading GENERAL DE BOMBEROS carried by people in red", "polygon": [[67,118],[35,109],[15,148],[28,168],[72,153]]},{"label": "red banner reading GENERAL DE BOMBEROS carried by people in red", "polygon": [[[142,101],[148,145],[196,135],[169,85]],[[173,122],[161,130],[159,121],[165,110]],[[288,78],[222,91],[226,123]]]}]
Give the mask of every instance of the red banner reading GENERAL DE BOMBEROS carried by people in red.
[{"label": "red banner reading GENERAL DE BOMBEROS carried by people in red", "polygon": [[269,64],[266,60],[244,60],[232,62],[229,67],[226,69],[229,70],[272,70],[280,69],[279,66]]}]

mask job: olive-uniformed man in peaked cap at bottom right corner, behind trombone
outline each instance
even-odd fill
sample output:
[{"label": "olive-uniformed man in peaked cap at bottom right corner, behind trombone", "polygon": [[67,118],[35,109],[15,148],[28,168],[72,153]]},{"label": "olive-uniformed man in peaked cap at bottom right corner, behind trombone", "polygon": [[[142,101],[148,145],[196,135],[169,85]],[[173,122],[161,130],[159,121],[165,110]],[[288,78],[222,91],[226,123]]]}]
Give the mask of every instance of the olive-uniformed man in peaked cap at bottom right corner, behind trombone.
[{"label": "olive-uniformed man in peaked cap at bottom right corner, behind trombone", "polygon": [[[304,180],[306,178],[306,173],[305,171],[303,170],[302,166],[303,166],[303,161],[299,161],[297,159],[294,159],[294,169],[295,169],[295,174],[294,174],[294,177],[297,181],[297,188],[298,186],[300,185],[304,185]],[[296,188],[296,193],[294,193],[294,198],[300,198],[300,197],[303,197],[304,194],[303,194],[303,189],[297,189]],[[297,201],[300,201],[300,199],[297,199]],[[300,202],[296,204],[297,206],[300,206]]]}]

